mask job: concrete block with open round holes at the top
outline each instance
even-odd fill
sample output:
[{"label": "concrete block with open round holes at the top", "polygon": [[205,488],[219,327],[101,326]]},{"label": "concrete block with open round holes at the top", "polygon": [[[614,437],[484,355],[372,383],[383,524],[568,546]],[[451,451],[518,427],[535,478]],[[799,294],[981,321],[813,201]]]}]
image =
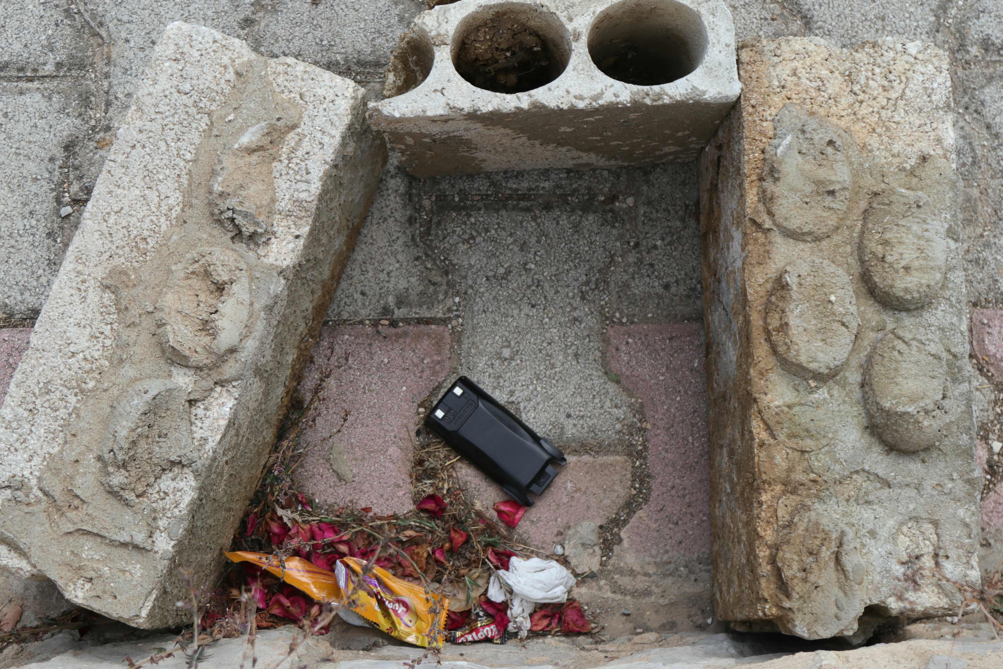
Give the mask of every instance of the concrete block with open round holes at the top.
[{"label": "concrete block with open round holes at the top", "polygon": [[687,160],[734,49],[720,0],[464,0],[404,34],[372,120],[419,177]]}]

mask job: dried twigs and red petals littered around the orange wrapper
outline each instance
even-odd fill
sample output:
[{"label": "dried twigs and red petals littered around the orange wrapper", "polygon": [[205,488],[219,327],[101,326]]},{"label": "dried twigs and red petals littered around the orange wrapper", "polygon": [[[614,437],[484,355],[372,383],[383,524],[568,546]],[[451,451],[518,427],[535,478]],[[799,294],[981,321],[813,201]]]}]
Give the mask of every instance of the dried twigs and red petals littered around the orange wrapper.
[{"label": "dried twigs and red petals littered around the orange wrapper", "polygon": [[[412,463],[412,512],[379,516],[370,508],[321,509],[295,489],[291,476],[305,453],[298,437],[310,409],[308,403],[287,421],[231,550],[279,560],[295,557],[330,572],[344,558],[365,562],[446,596],[453,614],[451,624],[465,624],[468,615],[475,618],[484,609],[498,610],[484,595],[491,574],[508,570],[513,558],[542,552],[516,543],[498,519],[466,501],[449,466],[456,459],[454,451],[437,437],[418,430]],[[505,508],[499,517],[508,519],[510,515],[511,510]],[[290,621],[307,625],[321,619],[321,603],[267,571],[242,564],[229,565],[220,586],[206,598],[201,627],[214,638],[246,634],[249,593],[257,611],[257,629]],[[594,627],[581,607],[569,611],[555,618],[566,623],[534,632],[571,633],[564,629],[567,627],[578,633]],[[318,634],[329,630],[327,624],[315,627]]]}]

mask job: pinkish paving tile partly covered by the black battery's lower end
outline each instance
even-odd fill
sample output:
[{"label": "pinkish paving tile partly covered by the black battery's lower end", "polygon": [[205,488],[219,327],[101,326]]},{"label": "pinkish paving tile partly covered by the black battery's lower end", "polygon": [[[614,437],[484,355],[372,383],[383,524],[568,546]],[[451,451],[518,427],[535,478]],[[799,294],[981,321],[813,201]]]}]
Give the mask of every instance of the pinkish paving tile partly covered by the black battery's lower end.
[{"label": "pinkish paving tile partly covered by the black battery's lower end", "polygon": [[[467,500],[494,518],[494,504],[509,498],[501,486],[465,460],[456,463],[456,473]],[[630,497],[630,460],[622,455],[569,456],[517,531],[533,546],[551,550],[582,523],[602,525]]]}]

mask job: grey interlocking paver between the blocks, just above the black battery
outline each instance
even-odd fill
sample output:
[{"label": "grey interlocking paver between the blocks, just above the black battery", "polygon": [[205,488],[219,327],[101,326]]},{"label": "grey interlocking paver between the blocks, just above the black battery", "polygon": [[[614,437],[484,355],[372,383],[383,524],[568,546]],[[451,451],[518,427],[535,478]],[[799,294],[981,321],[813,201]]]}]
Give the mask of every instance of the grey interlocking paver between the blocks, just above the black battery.
[{"label": "grey interlocking paver between the blocks, just above the black battery", "polygon": [[458,298],[460,371],[559,446],[606,448],[637,424],[603,366],[606,322],[699,314],[695,184],[672,186],[683,174],[663,164],[420,185],[422,245]]}]

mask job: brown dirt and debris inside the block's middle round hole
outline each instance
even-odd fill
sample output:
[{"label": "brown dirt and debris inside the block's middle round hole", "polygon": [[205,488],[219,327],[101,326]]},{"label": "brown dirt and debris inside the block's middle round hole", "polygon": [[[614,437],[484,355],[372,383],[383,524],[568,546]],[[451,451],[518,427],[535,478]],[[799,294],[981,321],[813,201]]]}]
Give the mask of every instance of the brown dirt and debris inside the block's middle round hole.
[{"label": "brown dirt and debris inside the block's middle round hole", "polygon": [[456,71],[477,88],[521,93],[556,79],[564,69],[551,45],[524,21],[489,18],[460,42]]}]

